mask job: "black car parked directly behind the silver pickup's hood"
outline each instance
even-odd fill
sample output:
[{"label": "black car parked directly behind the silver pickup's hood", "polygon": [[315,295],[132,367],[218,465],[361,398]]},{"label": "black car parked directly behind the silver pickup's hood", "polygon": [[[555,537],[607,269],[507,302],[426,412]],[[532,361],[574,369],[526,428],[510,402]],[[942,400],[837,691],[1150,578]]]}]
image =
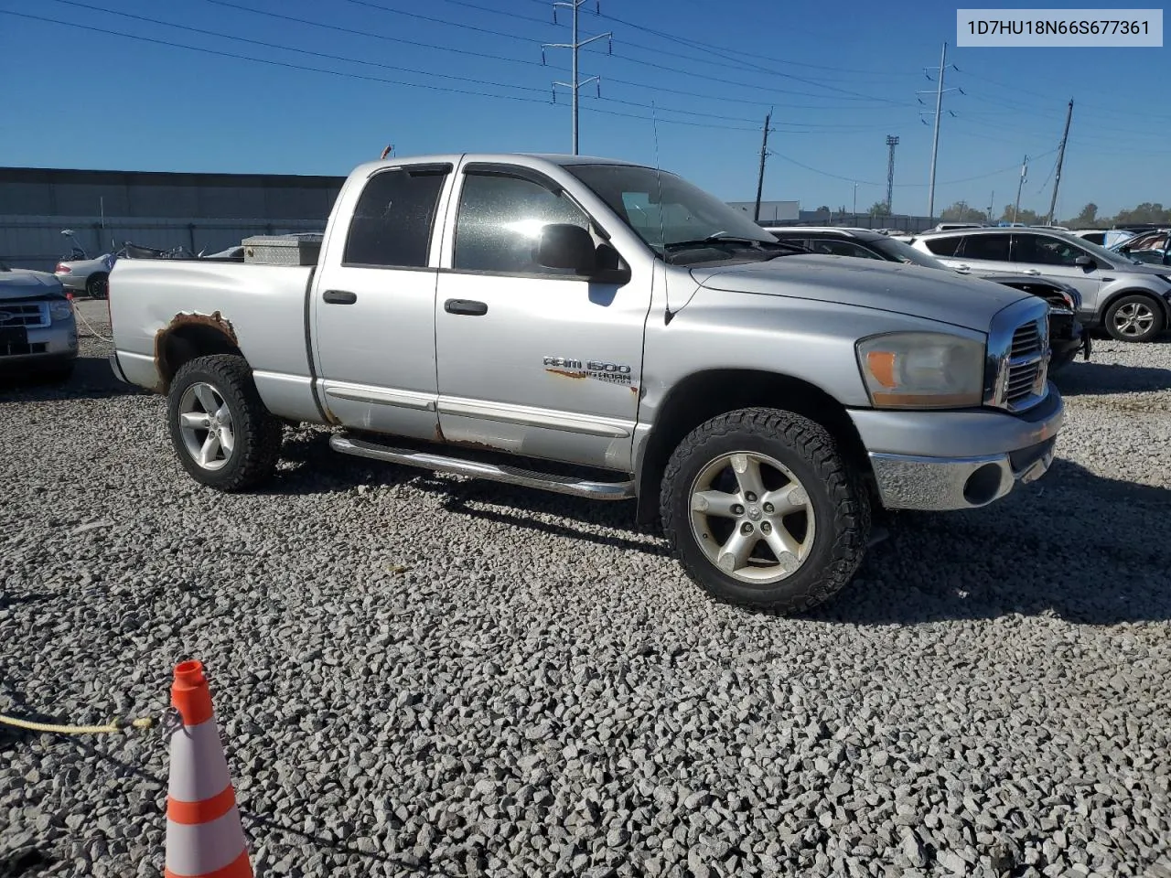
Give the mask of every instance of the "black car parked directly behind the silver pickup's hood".
[{"label": "black car parked directly behind the silver pickup's hood", "polygon": [[[869,228],[766,226],[765,231],[776,240],[801,247],[812,254],[878,259],[941,272],[954,272],[934,256],[917,251],[905,241],[888,238]],[[1090,334],[1083,331],[1076,316],[1081,310],[1081,294],[1076,288],[1033,275],[977,274],[975,276],[1039,296],[1049,303],[1049,345],[1053,349],[1053,359],[1049,363],[1050,373],[1069,365],[1078,351],[1086,359],[1090,358],[1093,349]]]}]

